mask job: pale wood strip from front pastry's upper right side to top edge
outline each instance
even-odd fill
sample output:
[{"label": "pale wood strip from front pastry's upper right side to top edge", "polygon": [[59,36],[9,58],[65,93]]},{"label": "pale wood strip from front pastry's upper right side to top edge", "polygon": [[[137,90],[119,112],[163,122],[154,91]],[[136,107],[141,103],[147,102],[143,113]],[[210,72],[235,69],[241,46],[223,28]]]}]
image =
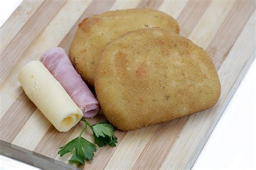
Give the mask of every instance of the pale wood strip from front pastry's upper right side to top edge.
[{"label": "pale wood strip from front pastry's upper right side to top edge", "polygon": [[213,1],[191,33],[189,39],[196,45],[206,49],[234,4],[235,1],[233,0]]}]

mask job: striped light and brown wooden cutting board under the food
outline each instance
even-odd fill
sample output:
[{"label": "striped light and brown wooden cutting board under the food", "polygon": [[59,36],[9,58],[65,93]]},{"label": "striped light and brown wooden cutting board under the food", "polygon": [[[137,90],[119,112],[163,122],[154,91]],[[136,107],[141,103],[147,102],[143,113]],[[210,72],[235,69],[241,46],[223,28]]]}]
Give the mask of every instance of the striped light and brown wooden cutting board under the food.
[{"label": "striped light and brown wooden cutting board under the food", "polygon": [[[1,27],[1,154],[46,169],[75,168],[68,164],[71,154],[60,158],[57,152],[58,147],[78,136],[83,123],[69,132],[58,132],[26,97],[17,73],[25,63],[38,60],[46,49],[60,46],[68,52],[83,18],[128,8],[158,9],[176,18],[180,34],[203,47],[214,61],[221,96],[214,107],[191,116],[129,132],[116,130],[117,147],[98,148],[93,161],[79,168],[193,166],[255,58],[254,1],[23,1]],[[102,120],[101,114],[89,121]],[[92,139],[89,131],[84,136]]]}]

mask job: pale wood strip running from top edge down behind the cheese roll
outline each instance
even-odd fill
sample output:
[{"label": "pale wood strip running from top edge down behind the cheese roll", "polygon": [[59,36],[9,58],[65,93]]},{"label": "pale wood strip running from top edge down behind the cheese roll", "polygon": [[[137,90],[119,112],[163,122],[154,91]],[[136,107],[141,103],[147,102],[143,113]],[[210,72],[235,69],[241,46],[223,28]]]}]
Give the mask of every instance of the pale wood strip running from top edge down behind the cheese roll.
[{"label": "pale wood strip running from top edge down behind the cheese roll", "polygon": [[19,69],[31,60],[38,60],[46,49],[58,46],[90,2],[91,0],[69,1],[65,6],[63,6],[63,9],[57,13],[55,18],[52,19],[51,23],[46,27],[41,36],[39,36],[28,48],[23,59],[16,65],[14,70],[12,70],[11,74],[0,87],[0,95],[2,100],[5,102],[2,107],[1,117],[23,91],[22,88],[19,88],[20,85],[17,81]]}]

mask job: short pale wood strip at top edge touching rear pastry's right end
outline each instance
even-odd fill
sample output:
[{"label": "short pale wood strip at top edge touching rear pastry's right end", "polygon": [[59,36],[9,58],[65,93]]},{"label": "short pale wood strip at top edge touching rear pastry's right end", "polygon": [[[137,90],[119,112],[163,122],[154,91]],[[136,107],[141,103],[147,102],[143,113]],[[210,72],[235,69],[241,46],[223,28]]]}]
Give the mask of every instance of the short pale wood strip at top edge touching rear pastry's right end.
[{"label": "short pale wood strip at top edge touching rear pastry's right end", "polygon": [[165,0],[159,7],[159,10],[177,19],[181,10],[183,10],[187,2],[188,0],[183,0],[183,1]]}]

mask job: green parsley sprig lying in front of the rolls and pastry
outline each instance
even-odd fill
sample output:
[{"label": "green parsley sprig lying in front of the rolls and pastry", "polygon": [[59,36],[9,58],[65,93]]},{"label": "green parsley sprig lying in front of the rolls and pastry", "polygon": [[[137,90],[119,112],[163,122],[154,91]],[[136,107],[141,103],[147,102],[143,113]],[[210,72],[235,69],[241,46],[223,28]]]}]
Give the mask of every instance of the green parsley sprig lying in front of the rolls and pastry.
[{"label": "green parsley sprig lying in front of the rolls and pastry", "polygon": [[104,145],[116,146],[117,137],[114,136],[113,126],[107,121],[95,125],[90,124],[84,118],[81,121],[85,123],[82,132],[77,138],[60,147],[58,154],[62,157],[64,154],[72,152],[73,155],[69,161],[84,165],[84,160],[92,160],[94,152],[96,152],[96,145],[82,137],[87,126],[92,130],[95,143],[99,147]]}]

